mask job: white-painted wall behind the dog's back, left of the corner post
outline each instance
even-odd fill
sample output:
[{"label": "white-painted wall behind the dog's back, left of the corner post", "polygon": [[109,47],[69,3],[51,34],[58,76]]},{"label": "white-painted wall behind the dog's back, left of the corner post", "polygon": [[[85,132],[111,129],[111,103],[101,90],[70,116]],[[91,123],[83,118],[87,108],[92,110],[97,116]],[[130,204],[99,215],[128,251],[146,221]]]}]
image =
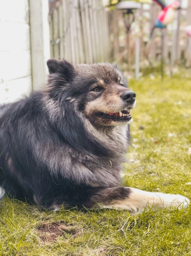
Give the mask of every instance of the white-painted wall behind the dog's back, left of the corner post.
[{"label": "white-painted wall behind the dog's back, left of the corner post", "polygon": [[0,0],[0,104],[31,90],[28,0]]}]

